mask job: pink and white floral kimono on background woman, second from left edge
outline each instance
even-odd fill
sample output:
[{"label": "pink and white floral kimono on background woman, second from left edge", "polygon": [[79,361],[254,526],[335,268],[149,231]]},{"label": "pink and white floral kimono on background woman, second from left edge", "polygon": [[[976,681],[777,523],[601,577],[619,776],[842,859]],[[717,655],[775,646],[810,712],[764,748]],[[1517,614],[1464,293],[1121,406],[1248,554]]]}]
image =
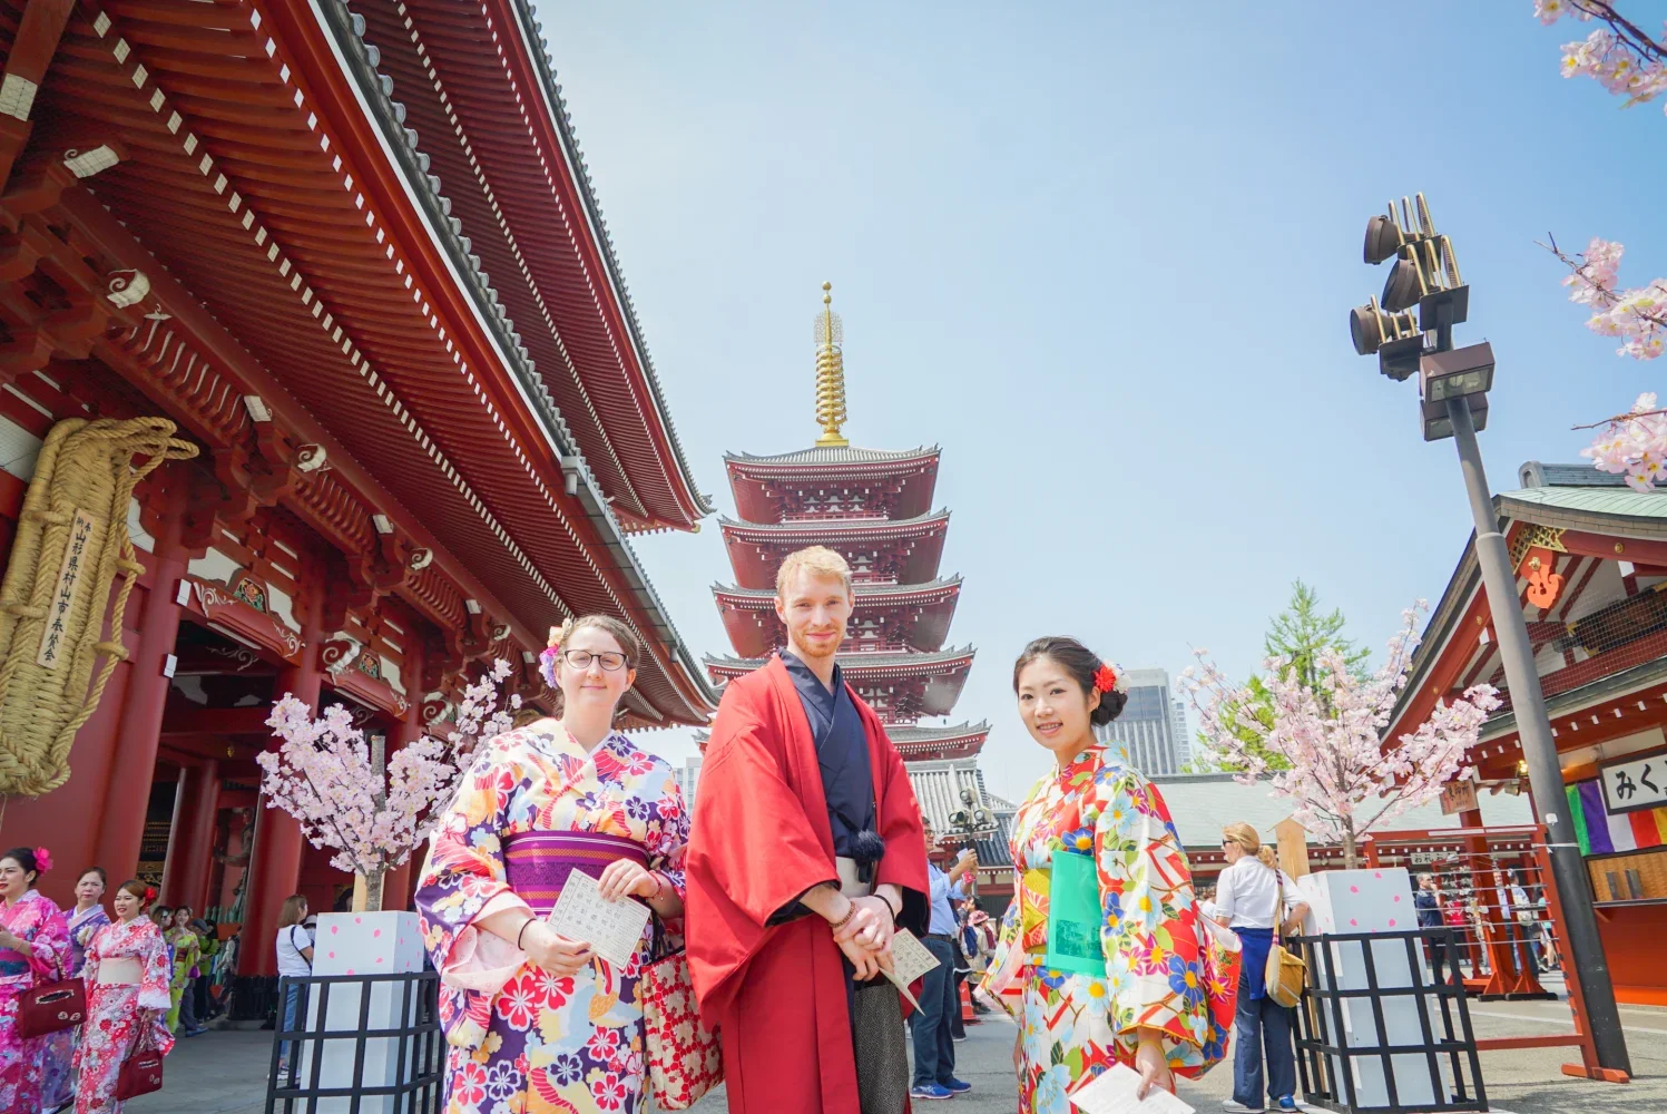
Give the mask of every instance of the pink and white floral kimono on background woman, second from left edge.
[{"label": "pink and white floral kimono on background woman, second from left edge", "polygon": [[[128,961],[137,966],[138,982],[100,982],[100,966]],[[172,1006],[168,982],[168,946],[162,929],[148,917],[127,924],[108,924],[87,949],[87,1022],[75,1049],[75,1114],[115,1114],[115,1081],[122,1062],[140,1037],[163,1056],[173,1047],[173,1036],[163,1016]]]}]

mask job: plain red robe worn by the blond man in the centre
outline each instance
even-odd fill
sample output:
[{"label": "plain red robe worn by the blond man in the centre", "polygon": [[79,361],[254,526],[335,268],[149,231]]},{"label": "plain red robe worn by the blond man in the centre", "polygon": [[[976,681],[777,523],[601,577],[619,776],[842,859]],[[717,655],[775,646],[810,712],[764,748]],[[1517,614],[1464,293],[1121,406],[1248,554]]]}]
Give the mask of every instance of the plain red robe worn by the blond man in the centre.
[{"label": "plain red robe worn by the blond man in the centre", "polygon": [[[892,740],[852,690],[869,737],[875,884],[904,889],[899,922],[924,932],[920,807]],[[822,770],[780,657],[728,682],[695,795],[685,862],[688,967],[718,1029],[730,1114],[859,1114],[845,969],[822,917],[767,926],[820,882],[837,882]]]}]

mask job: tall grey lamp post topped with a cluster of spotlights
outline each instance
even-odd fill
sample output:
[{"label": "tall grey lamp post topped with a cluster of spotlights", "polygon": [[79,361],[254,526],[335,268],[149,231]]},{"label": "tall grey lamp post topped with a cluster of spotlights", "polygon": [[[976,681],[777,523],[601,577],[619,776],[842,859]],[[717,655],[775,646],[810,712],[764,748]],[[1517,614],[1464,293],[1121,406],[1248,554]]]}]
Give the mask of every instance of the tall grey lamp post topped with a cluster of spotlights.
[{"label": "tall grey lamp post topped with a cluster of spotlights", "polygon": [[[1459,470],[1475,519],[1475,557],[1494,617],[1494,634],[1499,637],[1499,657],[1505,667],[1517,735],[1529,765],[1529,789],[1549,837],[1552,882],[1562,901],[1570,959],[1582,989],[1579,1006],[1585,1011],[1584,1027],[1592,1036],[1599,1067],[1630,1076],[1615,987],[1597,932],[1597,911],[1592,907],[1592,889],[1580,859],[1574,819],[1569,815],[1557,744],[1552,740],[1545,695],[1517,595],[1517,577],[1475,440],[1477,429],[1487,419],[1494,352],[1487,344],[1457,352],[1452,347],[1452,329],[1467,317],[1469,287],[1459,277],[1452,242],[1435,232],[1422,193],[1415,202],[1402,198],[1399,215],[1392,202],[1387,217],[1369,222],[1365,262],[1380,263],[1389,258],[1395,258],[1395,265],[1384,285],[1382,302],[1374,299],[1350,314],[1355,350],[1360,355],[1375,352],[1379,369],[1390,379],[1404,380],[1419,372],[1424,439],[1452,437],[1459,449]],[[1414,307],[1419,310],[1417,322],[1412,320]]]}]

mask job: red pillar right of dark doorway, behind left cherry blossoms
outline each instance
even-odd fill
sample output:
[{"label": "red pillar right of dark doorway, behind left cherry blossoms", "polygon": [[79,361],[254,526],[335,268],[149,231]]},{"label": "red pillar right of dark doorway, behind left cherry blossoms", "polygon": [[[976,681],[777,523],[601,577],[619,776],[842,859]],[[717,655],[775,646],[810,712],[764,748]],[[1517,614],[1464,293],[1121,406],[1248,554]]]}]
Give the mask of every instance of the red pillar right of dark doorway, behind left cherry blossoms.
[{"label": "red pillar right of dark doorway, behind left cherry blossoms", "polygon": [[[273,699],[285,692],[302,704],[318,710],[318,692],[323,672],[318,669],[318,585],[303,584],[302,597],[295,600],[303,614],[297,615],[302,624],[302,660],[300,665],[285,665],[278,670],[277,684],[272,687]],[[272,742],[277,747],[277,740]],[[255,817],[255,854],[248,862],[248,884],[243,892],[243,927],[242,942],[237,951],[238,974],[277,974],[278,957],[273,952],[277,939],[278,907],[283,899],[295,892],[302,879],[302,852],[307,841],[302,827],[283,809],[268,809],[265,794],[260,795]],[[330,912],[313,909],[312,912]]]}]

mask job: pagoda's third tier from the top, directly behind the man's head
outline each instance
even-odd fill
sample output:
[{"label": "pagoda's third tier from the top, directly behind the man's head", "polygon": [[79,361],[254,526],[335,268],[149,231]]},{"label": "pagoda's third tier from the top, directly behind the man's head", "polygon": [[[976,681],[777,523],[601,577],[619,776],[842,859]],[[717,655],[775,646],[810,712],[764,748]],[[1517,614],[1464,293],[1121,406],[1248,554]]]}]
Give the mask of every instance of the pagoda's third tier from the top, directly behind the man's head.
[{"label": "pagoda's third tier from the top, directly behind the man's head", "polygon": [[[937,650],[949,637],[960,597],[960,577],[930,584],[854,584],[855,610],[847,650],[867,647]],[[737,654],[763,657],[787,644],[775,615],[773,589],[717,587],[712,595]]]}]

